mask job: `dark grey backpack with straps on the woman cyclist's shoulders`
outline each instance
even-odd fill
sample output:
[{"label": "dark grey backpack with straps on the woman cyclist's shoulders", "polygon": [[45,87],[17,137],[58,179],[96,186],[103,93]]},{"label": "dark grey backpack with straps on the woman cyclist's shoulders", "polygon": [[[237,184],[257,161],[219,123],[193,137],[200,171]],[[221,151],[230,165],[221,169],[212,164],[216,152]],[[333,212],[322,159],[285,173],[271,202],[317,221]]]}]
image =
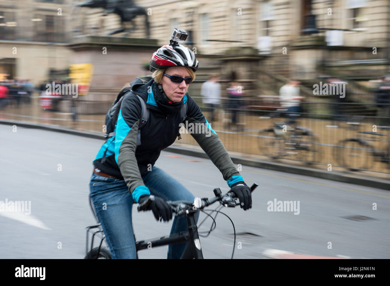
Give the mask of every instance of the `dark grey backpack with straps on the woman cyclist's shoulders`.
[{"label": "dark grey backpack with straps on the woman cyclist's shoulders", "polygon": [[[137,78],[140,79],[145,84],[152,79],[152,76],[146,75],[144,77],[137,77]],[[108,110],[106,114],[106,120],[105,120],[105,125],[106,125],[106,135],[104,135],[105,139],[108,140],[109,138],[115,136],[115,125],[117,123],[119,111],[121,110],[122,100],[124,98],[124,95],[130,92],[133,92],[131,91],[130,86],[127,86],[126,88],[119,91],[117,98],[115,98],[110,110]],[[141,121],[140,124],[138,125],[138,134],[137,134],[137,146],[138,146],[141,144],[141,128],[146,124],[147,120],[149,119],[149,109],[147,109],[147,105],[144,98],[140,97],[139,95],[137,95],[137,97],[141,102]],[[184,119],[187,117],[187,101],[181,107],[181,117],[182,117],[182,121],[184,121]],[[104,163],[104,161],[106,160],[107,149],[108,146],[106,148],[106,151],[104,152],[103,158],[101,159],[101,163]]]}]

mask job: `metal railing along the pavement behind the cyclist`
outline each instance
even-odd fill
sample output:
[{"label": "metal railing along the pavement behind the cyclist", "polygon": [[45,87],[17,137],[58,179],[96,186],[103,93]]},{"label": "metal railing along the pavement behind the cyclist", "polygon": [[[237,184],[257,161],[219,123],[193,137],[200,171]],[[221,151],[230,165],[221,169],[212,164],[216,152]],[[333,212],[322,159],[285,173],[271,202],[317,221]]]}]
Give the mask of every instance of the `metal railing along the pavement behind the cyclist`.
[{"label": "metal railing along the pavement behind the cyclist", "polygon": [[[105,114],[112,105],[111,101],[81,98],[27,98],[8,97],[6,105],[4,98],[0,99],[0,118],[103,135]],[[201,97],[193,98],[228,151],[258,156],[259,160],[310,164],[324,170],[331,166],[333,171],[359,170],[390,179],[390,130],[386,127],[390,125],[390,104],[378,108],[376,104],[301,102],[302,110],[293,114],[284,102],[269,98],[243,98],[239,108],[229,105],[230,98],[221,98],[221,104],[212,107],[202,104]],[[190,134],[181,134],[176,142],[198,145]]]}]

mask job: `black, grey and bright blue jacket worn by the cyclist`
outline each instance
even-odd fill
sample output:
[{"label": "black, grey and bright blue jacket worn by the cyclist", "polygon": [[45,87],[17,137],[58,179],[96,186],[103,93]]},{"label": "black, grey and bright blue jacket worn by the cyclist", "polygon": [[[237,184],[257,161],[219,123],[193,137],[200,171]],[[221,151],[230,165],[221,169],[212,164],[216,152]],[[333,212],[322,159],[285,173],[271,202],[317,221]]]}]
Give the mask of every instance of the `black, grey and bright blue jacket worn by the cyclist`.
[{"label": "black, grey and bright blue jacket worn by the cyclist", "polygon": [[[124,179],[133,200],[138,202],[141,195],[150,195],[142,177],[151,170],[161,150],[175,142],[181,128],[180,124],[190,126],[190,123],[193,125],[202,123],[211,132],[208,136],[206,133],[190,132],[192,137],[220,170],[229,187],[243,181],[221,140],[207,122],[195,100],[188,93],[184,95],[183,103],[187,101],[187,116],[184,121],[180,111],[165,114],[158,108],[152,88],[148,88],[153,83],[153,79],[143,83],[138,78],[131,82],[132,92],[124,95],[115,125],[115,136],[106,140],[101,146],[93,161],[94,166],[103,173]],[[149,109],[149,119],[142,126],[141,137],[138,140],[142,108],[137,95],[144,98]],[[105,152],[106,160],[102,163],[101,158]]]}]

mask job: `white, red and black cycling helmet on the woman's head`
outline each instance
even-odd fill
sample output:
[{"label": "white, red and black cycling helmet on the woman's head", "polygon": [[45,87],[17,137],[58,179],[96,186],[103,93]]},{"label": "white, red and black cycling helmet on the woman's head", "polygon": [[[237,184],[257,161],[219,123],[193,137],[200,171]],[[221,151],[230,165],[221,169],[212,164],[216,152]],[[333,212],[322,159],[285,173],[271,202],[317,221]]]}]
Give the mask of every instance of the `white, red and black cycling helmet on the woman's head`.
[{"label": "white, red and black cycling helmet on the woman's head", "polygon": [[199,61],[195,54],[188,47],[180,44],[176,46],[165,45],[160,47],[152,54],[149,70],[164,69],[168,67],[190,67],[194,72],[197,71]]}]

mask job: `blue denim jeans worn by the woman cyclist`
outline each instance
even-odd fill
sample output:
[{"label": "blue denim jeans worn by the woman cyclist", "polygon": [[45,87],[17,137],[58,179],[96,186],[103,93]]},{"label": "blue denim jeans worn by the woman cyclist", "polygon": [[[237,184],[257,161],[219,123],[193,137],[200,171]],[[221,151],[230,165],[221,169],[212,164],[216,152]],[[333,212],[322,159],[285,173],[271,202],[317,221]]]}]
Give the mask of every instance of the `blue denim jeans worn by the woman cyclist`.
[{"label": "blue denim jeans worn by the woman cyclist", "polygon": [[[160,168],[152,167],[152,170],[142,179],[151,195],[161,197],[164,200],[192,202],[195,198],[180,182]],[[129,193],[126,182],[122,179],[103,177],[92,172],[89,188],[97,218],[110,247],[112,259],[137,258],[131,221],[133,197]],[[152,213],[149,215],[153,216]],[[195,213],[197,222],[198,218],[199,211]],[[170,234],[187,230],[186,216],[174,217]],[[186,245],[187,242],[169,245],[167,258],[179,259]]]}]

